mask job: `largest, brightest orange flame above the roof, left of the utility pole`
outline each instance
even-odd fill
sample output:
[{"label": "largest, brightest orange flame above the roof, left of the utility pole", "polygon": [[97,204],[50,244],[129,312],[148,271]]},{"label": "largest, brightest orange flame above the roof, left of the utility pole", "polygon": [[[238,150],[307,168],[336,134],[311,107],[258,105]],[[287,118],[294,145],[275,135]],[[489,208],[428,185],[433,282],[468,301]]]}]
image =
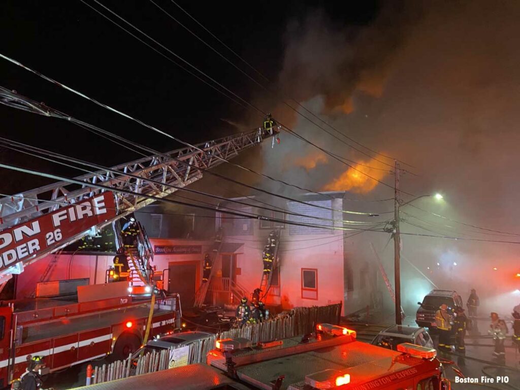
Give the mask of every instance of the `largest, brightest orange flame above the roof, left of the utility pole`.
[{"label": "largest, brightest orange flame above the roof, left of the utility pole", "polygon": [[[381,180],[388,173],[386,166],[379,161],[370,160],[368,162],[361,161],[353,167],[348,168],[340,177],[333,179],[330,183],[323,187],[323,191],[352,191],[357,193],[368,193],[377,185],[376,180]],[[368,175],[368,176],[367,176]]]}]

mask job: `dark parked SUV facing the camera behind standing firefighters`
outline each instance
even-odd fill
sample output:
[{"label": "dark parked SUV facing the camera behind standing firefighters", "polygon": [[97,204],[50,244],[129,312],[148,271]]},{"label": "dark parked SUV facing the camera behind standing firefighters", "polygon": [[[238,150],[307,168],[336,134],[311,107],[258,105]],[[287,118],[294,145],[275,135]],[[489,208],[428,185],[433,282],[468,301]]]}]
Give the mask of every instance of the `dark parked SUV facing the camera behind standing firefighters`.
[{"label": "dark parked SUV facing the camera behind standing firefighters", "polygon": [[424,300],[417,303],[420,307],[415,314],[415,322],[418,326],[424,328],[437,328],[435,323],[435,313],[439,306],[446,304],[448,306],[448,313],[450,322],[453,323],[453,313],[456,308],[462,306],[462,298],[457,291],[454,290],[432,290],[424,297]]}]

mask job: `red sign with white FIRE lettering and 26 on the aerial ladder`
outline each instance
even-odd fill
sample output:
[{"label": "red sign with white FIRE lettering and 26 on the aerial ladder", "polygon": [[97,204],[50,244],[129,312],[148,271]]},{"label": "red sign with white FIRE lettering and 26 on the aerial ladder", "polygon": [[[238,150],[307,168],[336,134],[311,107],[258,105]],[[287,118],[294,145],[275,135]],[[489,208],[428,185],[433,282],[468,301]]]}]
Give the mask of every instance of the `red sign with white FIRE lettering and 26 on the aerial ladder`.
[{"label": "red sign with white FIRE lettering and 26 on the aerial ladder", "polygon": [[112,192],[103,192],[67,207],[0,231],[0,270],[47,251],[115,217]]}]

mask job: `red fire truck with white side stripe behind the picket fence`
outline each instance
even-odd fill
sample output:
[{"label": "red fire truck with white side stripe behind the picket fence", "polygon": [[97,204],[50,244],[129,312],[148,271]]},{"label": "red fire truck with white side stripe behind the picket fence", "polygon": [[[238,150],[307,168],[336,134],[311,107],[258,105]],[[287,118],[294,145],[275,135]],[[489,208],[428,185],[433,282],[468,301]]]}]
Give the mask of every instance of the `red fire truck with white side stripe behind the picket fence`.
[{"label": "red fire truck with white side stripe behind the picket fence", "polygon": [[[45,356],[48,372],[114,354],[127,357],[144,338],[150,298],[129,296],[127,282],[86,286],[94,300],[3,302],[0,306],[0,388],[20,377],[31,356]],[[114,290],[119,293],[114,294]],[[108,295],[112,297],[107,297]],[[119,296],[113,296],[119,295]],[[95,297],[99,299],[96,299]],[[149,337],[180,329],[178,294],[154,303]]]}]

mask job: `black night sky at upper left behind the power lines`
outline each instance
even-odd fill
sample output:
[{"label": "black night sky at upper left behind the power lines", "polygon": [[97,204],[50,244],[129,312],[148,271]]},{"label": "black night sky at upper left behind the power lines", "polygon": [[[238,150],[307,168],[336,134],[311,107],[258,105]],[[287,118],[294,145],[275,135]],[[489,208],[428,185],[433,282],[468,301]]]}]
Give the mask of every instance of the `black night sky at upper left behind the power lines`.
[{"label": "black night sky at upper left behind the power lines", "polygon": [[[95,5],[92,1],[89,4]],[[141,0],[124,3],[103,1],[102,4],[245,99],[259,95],[258,88],[251,81],[152,3]],[[248,70],[170,1],[157,0],[157,4]],[[179,4],[275,81],[283,60],[284,34],[290,20],[298,20],[320,8],[332,15],[335,23],[355,27],[370,23],[378,12],[376,2],[180,1]],[[80,1],[6,1],[1,7],[2,53],[181,139],[196,142],[227,135],[237,129],[221,119],[238,121],[246,116],[251,118],[243,108]],[[4,87],[43,101],[49,107],[161,151],[177,147],[172,140],[153,134],[5,60],[0,61],[0,74]],[[270,110],[268,106],[263,108]],[[0,106],[0,115],[3,123],[1,134],[7,138],[105,165],[137,158],[129,154],[131,152],[114,148],[110,142],[57,119],[42,118],[5,106]],[[258,123],[252,119],[248,125],[252,128]],[[3,151],[2,161],[38,166],[47,172],[77,174],[51,163],[21,158],[12,152]],[[0,175],[3,178],[2,191],[8,193],[47,183],[45,179],[12,175],[5,171]]]}]

